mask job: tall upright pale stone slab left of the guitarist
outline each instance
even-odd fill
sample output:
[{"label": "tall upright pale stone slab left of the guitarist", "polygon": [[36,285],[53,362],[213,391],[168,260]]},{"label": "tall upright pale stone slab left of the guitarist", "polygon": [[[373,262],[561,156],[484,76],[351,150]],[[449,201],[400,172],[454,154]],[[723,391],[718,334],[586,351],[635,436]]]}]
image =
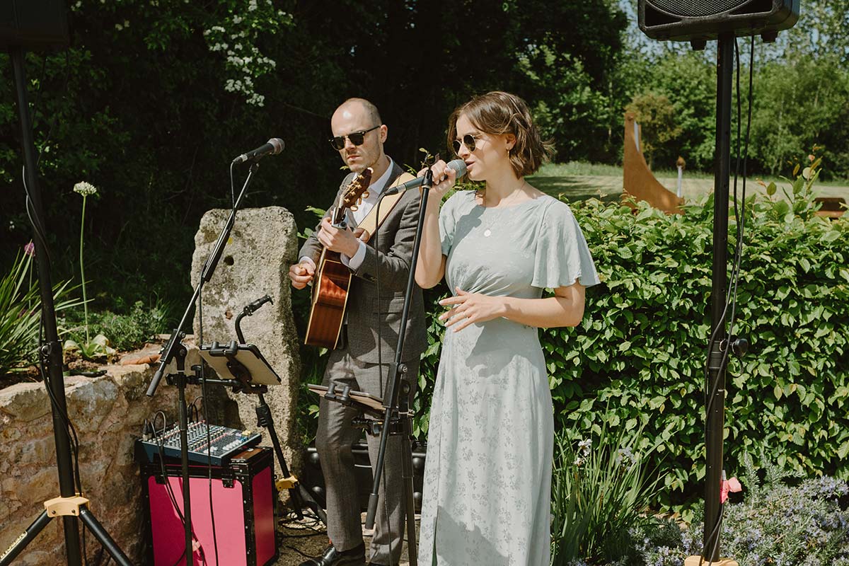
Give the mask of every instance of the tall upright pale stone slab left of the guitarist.
[{"label": "tall upright pale stone slab left of the guitarist", "polygon": [[[229,210],[210,210],[200,221],[194,237],[192,287],[200,280],[206,259],[229,216]],[[194,333],[203,322],[205,344],[217,341],[227,344],[236,339],[235,319],[245,305],[268,294],[273,304],[265,305],[241,321],[245,340],[256,345],[274,372],[282,380],[268,388],[265,399],[271,407],[274,426],[284,447],[290,468],[300,463],[300,447],[295,433],[297,388],[301,383],[298,339],[292,318],[289,266],[295,261],[297,236],[295,221],[288,210],[278,206],[240,210],[233,232],[225,246],[216,272],[203,289],[203,321],[195,310]],[[224,392],[226,390],[226,393]],[[229,388],[219,389],[210,399],[223,395],[235,403],[216,403],[216,416],[234,428],[256,429],[256,395],[233,394]],[[215,422],[211,415],[211,421]],[[263,444],[271,440],[263,434]],[[278,468],[279,472],[279,468]]]}]

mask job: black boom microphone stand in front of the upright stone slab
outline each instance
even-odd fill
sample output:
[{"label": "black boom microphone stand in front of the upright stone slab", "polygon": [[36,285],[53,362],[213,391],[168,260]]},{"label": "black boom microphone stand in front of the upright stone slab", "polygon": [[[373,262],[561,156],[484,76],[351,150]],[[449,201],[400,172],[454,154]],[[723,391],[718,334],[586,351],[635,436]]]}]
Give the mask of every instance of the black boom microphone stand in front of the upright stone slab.
[{"label": "black boom microphone stand in front of the upright stone slab", "polygon": [[[156,373],[154,373],[154,378],[150,380],[150,385],[146,392],[146,395],[148,395],[149,397],[153,397],[155,395],[156,388],[157,386],[159,386],[159,382],[162,379],[163,373],[165,373],[166,366],[171,362],[171,360],[176,357],[177,373],[168,374],[166,380],[169,384],[177,385],[177,389],[179,390],[180,396],[180,460],[183,466],[183,528],[185,530],[186,535],[187,565],[193,563],[193,561],[191,507],[192,502],[191,495],[189,493],[190,490],[188,487],[188,410],[186,407],[186,384],[188,378],[186,376],[186,373],[184,372],[187,350],[186,346],[183,345],[183,339],[186,337],[186,333],[183,331],[183,326],[188,320],[188,313],[192,311],[195,301],[197,301],[198,297],[200,297],[200,291],[201,289],[203,289],[204,283],[206,283],[212,278],[212,274],[215,272],[216,266],[218,266],[218,261],[221,260],[221,255],[224,251],[224,246],[227,244],[227,241],[230,238],[230,233],[233,231],[233,224],[236,221],[236,212],[239,210],[239,206],[241,206],[242,204],[242,199],[245,198],[245,192],[247,191],[248,185],[250,185],[250,179],[251,177],[253,177],[258,167],[259,164],[257,164],[256,161],[250,165],[248,177],[245,179],[245,184],[242,186],[241,192],[239,192],[239,198],[236,199],[236,202],[233,205],[233,210],[230,211],[230,217],[228,218],[227,223],[222,228],[221,233],[218,235],[215,248],[212,249],[212,253],[206,259],[203,271],[201,272],[200,281],[194,288],[194,294],[192,294],[191,300],[188,301],[186,311],[183,312],[183,318],[180,319],[180,323],[177,325],[177,328],[175,328],[174,332],[171,333],[171,338],[168,339],[168,342],[166,343],[165,348],[162,351],[162,357],[160,358],[160,367],[156,370]],[[197,378],[200,380],[202,378],[202,375],[198,375]]]}]

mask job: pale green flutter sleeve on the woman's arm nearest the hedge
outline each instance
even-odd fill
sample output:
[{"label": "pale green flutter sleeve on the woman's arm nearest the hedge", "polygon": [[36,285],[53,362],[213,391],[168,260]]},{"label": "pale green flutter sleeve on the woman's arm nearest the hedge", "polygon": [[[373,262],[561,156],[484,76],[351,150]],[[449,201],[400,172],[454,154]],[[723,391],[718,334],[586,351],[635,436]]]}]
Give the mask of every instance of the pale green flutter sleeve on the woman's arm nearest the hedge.
[{"label": "pale green flutter sleeve on the woman's arm nearest the hedge", "polygon": [[554,200],[539,224],[531,285],[555,289],[576,281],[584,287],[600,283],[593,255],[569,205]]}]

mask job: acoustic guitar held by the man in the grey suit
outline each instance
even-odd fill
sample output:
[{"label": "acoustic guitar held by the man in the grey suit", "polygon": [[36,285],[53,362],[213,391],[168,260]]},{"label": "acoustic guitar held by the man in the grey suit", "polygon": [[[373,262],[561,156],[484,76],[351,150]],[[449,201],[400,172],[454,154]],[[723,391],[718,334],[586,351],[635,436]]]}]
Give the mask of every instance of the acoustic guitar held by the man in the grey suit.
[{"label": "acoustic guitar held by the man in the grey suit", "polygon": [[[354,177],[340,193],[339,202],[330,214],[330,220],[335,227],[345,228],[346,211],[357,210],[356,206],[360,200],[368,198],[367,190],[371,176],[372,170],[368,168]],[[313,281],[310,322],[306,327],[304,343],[323,348],[335,348],[345,319],[348,289],[351,287],[351,270],[342,263],[339,252],[325,248],[318,259]]]}]

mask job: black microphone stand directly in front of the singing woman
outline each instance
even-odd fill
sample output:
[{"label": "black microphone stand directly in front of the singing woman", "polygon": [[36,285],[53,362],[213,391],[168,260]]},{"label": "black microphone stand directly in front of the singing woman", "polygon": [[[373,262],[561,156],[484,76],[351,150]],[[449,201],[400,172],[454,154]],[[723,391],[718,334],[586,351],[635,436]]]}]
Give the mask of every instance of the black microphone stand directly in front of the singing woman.
[{"label": "black microphone stand directly in front of the singing woman", "polygon": [[[409,410],[410,384],[402,381],[402,375],[407,373],[407,366],[402,363],[401,356],[404,350],[404,329],[407,328],[407,320],[410,312],[410,301],[413,297],[413,286],[416,278],[416,264],[419,260],[419,246],[421,245],[421,233],[424,226],[424,212],[427,210],[427,198],[430,188],[433,186],[433,171],[430,169],[424,173],[424,182],[421,186],[421,202],[419,204],[419,222],[416,225],[416,237],[413,240],[413,257],[410,259],[410,273],[407,279],[407,290],[404,292],[404,308],[401,313],[401,331],[398,333],[398,342],[395,347],[395,361],[389,365],[389,376],[386,382],[386,391],[383,396],[385,413],[383,417],[383,433],[380,435],[380,448],[378,450],[377,462],[374,466],[374,483],[371,495],[368,496],[368,513],[366,513],[366,529],[374,529],[374,515],[377,513],[378,492],[380,490],[380,476],[383,474],[384,460],[386,454],[386,440],[390,434],[401,435],[402,450],[402,479],[404,484],[404,507],[407,513],[407,554],[410,566],[418,566],[416,551],[416,513],[415,502],[413,502],[413,449],[410,438],[413,436],[413,423]],[[391,560],[391,559],[390,559]]]}]

